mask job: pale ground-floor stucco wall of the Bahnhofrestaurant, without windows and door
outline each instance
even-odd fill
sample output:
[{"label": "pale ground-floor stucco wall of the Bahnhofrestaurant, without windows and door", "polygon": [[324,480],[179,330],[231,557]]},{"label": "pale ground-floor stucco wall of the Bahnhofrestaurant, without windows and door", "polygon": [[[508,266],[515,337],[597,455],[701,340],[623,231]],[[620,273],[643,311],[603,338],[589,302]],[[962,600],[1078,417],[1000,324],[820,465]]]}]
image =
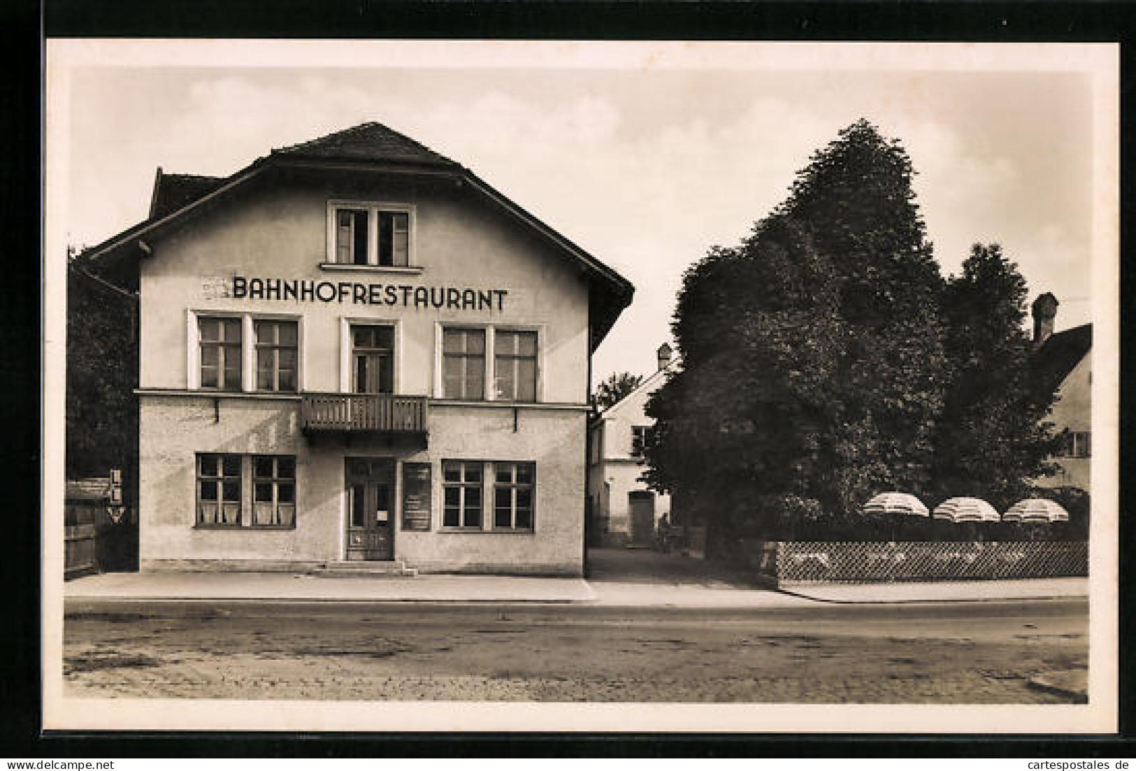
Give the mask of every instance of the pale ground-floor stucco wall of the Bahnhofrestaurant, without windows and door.
[{"label": "pale ground-floor stucco wall of the Bahnhofrestaurant, without windows and door", "polygon": [[[215,399],[219,405],[215,408]],[[578,410],[525,409],[512,433],[511,409],[435,407],[428,450],[392,452],[378,442],[304,438],[299,399],[143,395],[140,451],[140,555],[147,568],[272,569],[343,559],[346,458],[425,461],[434,467],[428,531],[402,530],[392,518],[394,559],[420,571],[578,575],[584,538],[585,416]],[[315,445],[315,446],[314,446]],[[294,454],[294,529],[195,527],[200,452]],[[532,533],[446,531],[441,527],[441,459],[519,459],[536,463]],[[395,474],[394,500],[402,500]],[[243,563],[243,564],[242,564]]]}]

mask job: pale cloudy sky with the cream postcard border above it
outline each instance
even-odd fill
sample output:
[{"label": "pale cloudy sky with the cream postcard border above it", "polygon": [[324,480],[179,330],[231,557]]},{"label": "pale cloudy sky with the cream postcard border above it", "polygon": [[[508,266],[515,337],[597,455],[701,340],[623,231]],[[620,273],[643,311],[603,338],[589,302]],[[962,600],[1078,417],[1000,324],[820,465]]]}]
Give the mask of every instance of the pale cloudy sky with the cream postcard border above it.
[{"label": "pale cloudy sky with the cream postcard border above it", "polygon": [[1102,116],[1069,48],[1005,64],[982,50],[960,66],[966,56],[911,44],[101,45],[49,44],[49,219],[62,212],[50,225],[68,244],[144,219],[159,166],[227,176],[375,120],[628,278],[634,302],[594,379],[646,375],[670,340],[683,271],[740,243],[815,151],[867,118],[911,157],[944,275],[972,243],[996,242],[1030,300],[1056,295],[1058,329],[1092,318]]}]

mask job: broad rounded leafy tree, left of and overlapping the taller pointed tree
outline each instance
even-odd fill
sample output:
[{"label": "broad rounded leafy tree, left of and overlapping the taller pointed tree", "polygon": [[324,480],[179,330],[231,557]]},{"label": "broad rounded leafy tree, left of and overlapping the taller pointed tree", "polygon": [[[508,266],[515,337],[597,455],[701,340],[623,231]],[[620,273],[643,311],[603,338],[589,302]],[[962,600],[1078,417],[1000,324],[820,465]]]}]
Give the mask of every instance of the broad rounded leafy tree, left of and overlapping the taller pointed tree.
[{"label": "broad rounded leafy tree, left of and overlapping the taller pointed tree", "polygon": [[674,322],[683,368],[648,403],[652,484],[712,501],[719,523],[738,514],[743,529],[760,525],[744,521],[757,496],[815,486],[844,344],[834,278],[785,216],[687,270]]}]

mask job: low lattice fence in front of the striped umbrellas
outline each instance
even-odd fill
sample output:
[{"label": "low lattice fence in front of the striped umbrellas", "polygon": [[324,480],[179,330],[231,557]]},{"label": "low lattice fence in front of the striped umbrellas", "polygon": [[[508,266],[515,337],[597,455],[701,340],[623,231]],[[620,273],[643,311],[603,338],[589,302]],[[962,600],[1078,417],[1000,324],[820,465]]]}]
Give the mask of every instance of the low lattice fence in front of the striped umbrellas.
[{"label": "low lattice fence in front of the striped umbrellas", "polygon": [[763,546],[761,572],[779,585],[1088,575],[1088,544],[1084,542],[778,542]]}]

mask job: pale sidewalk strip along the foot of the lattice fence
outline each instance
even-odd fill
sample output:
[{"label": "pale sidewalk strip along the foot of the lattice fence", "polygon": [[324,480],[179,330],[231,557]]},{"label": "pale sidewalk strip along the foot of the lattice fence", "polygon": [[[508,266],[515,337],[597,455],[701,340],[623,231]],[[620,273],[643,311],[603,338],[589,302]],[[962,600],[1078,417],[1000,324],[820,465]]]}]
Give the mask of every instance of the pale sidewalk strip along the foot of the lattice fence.
[{"label": "pale sidewalk strip along the foot of the lattice fence", "polygon": [[1028,578],[991,581],[828,584],[788,586],[787,594],[832,603],[974,602],[1088,596],[1087,578]]}]

